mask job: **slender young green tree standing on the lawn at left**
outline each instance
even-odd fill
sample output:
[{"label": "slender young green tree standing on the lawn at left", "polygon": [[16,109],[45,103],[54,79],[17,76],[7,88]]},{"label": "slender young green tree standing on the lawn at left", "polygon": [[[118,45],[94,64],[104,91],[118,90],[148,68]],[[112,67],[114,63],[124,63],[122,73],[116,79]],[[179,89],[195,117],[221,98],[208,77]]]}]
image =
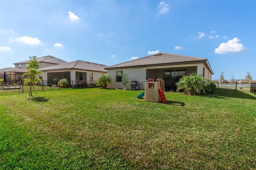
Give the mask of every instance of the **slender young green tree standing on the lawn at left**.
[{"label": "slender young green tree standing on the lawn at left", "polygon": [[26,78],[24,79],[24,83],[28,86],[30,86],[29,88],[29,94],[28,97],[33,97],[32,95],[32,86],[34,87],[34,85],[41,81],[40,78],[38,78],[37,76],[40,76],[40,74],[42,74],[42,71],[38,71],[38,66],[39,66],[39,62],[36,60],[36,56],[33,57],[29,57],[30,61],[28,62],[28,66],[26,66],[26,69],[28,70],[27,73],[24,73],[22,76],[26,76]]}]

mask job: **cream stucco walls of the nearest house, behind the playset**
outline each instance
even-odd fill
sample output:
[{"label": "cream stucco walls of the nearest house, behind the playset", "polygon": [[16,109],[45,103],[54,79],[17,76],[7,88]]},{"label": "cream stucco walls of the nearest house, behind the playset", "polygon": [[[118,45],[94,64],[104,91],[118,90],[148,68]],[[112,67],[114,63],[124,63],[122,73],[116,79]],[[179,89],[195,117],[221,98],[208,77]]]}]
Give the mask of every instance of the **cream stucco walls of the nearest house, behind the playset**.
[{"label": "cream stucco walls of the nearest house, behind the playset", "polygon": [[[124,88],[122,82],[116,82],[116,71],[123,71],[126,73],[130,81],[138,81],[140,83],[140,89],[144,89],[146,82],[147,69],[158,69],[157,77],[164,80],[164,70],[173,69],[174,67],[178,69],[186,69],[187,75],[196,72],[196,74],[203,74],[203,63],[193,63],[193,64],[179,64],[179,65],[166,65],[166,66],[151,66],[151,67],[140,67],[140,68],[118,68],[118,69],[110,69],[108,70],[108,74],[111,76],[112,83],[110,88]],[[205,66],[204,66],[205,67]],[[209,76],[208,76],[209,74]],[[207,75],[207,79],[211,79],[211,74],[209,70],[205,67],[205,75]],[[155,80],[156,81],[156,80]],[[130,88],[130,83],[127,84],[127,88]]]}]

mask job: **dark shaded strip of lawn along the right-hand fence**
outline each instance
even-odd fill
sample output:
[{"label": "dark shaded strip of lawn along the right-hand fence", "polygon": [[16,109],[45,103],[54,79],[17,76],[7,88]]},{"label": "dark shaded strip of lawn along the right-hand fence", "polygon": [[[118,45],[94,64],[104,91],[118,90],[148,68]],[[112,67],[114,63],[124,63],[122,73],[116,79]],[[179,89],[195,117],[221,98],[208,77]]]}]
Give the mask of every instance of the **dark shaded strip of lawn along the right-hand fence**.
[{"label": "dark shaded strip of lawn along the right-hand fence", "polygon": [[252,99],[256,100],[256,95],[247,94],[239,91],[224,91],[224,90],[216,90],[214,94],[209,95],[210,98],[240,98],[240,99]]}]

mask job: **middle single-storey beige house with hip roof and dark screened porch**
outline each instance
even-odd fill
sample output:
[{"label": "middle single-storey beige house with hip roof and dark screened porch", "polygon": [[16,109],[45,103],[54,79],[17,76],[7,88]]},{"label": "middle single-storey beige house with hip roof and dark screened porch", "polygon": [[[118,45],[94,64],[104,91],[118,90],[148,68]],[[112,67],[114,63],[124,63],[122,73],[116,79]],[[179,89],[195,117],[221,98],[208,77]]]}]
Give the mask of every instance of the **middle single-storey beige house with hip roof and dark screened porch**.
[{"label": "middle single-storey beige house with hip roof and dark screened porch", "polygon": [[96,84],[99,76],[107,73],[105,67],[106,65],[103,64],[77,60],[39,68],[38,70],[43,72],[41,74],[42,80],[52,81],[54,78],[66,78],[70,84],[74,85],[84,82]]}]

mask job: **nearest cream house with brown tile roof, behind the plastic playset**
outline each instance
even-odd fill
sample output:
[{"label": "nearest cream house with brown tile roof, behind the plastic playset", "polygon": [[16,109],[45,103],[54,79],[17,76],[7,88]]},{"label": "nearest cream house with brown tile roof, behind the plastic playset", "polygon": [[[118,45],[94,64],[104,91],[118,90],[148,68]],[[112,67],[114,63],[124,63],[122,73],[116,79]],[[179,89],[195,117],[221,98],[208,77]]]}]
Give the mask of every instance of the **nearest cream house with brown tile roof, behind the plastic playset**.
[{"label": "nearest cream house with brown tile roof, behind the plastic playset", "polygon": [[111,88],[123,88],[121,75],[128,74],[130,81],[137,81],[139,89],[144,89],[145,81],[153,78],[164,80],[167,90],[176,90],[176,84],[183,76],[196,73],[212,80],[212,68],[206,58],[158,53],[133,61],[105,68],[112,78]]}]

